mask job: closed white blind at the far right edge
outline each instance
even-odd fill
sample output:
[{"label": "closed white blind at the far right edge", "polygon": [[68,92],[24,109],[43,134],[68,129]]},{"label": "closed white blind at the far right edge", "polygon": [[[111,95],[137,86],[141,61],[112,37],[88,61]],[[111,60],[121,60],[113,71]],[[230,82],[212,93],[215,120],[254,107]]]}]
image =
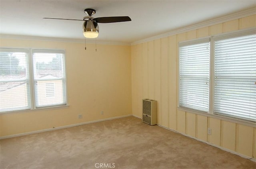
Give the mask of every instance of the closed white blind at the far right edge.
[{"label": "closed white blind at the far right edge", "polygon": [[256,120],[256,35],[214,41],[214,113]]}]

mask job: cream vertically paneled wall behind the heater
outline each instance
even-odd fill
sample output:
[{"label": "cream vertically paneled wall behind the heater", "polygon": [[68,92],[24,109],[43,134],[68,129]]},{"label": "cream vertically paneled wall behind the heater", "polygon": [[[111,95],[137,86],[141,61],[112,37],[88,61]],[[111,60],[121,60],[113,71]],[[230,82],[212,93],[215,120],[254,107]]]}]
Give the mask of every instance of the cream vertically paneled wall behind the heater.
[{"label": "cream vertically paneled wall behind the heater", "polygon": [[[252,157],[256,129],[178,110],[178,43],[256,27],[256,15],[132,45],[132,114],[141,118],[143,98],[157,100],[158,124]],[[206,114],[207,115],[207,114]],[[212,134],[207,134],[207,128]]]}]

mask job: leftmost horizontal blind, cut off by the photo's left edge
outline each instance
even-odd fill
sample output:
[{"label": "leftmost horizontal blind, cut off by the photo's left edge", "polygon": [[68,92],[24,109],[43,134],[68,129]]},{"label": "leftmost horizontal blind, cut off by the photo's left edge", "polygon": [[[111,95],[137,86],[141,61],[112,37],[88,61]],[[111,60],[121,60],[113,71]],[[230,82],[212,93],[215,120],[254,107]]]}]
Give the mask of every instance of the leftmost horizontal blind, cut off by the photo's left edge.
[{"label": "leftmost horizontal blind, cut off by the photo's left edge", "polygon": [[30,109],[28,50],[0,49],[0,112]]}]

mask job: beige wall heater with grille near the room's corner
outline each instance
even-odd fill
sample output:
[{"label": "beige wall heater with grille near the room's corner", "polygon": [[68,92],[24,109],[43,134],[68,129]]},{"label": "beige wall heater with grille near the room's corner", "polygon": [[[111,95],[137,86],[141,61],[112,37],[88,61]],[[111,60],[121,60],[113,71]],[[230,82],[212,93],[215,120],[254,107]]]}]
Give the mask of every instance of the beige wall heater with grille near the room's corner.
[{"label": "beige wall heater with grille near the room's corner", "polygon": [[142,122],[155,125],[157,123],[156,100],[142,99]]}]

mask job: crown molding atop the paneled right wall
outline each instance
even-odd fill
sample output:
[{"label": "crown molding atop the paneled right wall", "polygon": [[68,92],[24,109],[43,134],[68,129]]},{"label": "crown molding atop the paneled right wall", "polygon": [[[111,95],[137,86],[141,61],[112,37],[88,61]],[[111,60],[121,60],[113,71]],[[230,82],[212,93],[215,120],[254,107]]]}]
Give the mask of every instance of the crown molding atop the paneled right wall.
[{"label": "crown molding atop the paneled right wall", "polygon": [[144,43],[144,42],[152,41],[152,40],[155,40],[155,39],[160,39],[160,38],[163,38],[163,37],[168,37],[168,36],[171,36],[171,35],[176,35],[176,34],[184,33],[184,32],[187,32],[187,31],[192,31],[192,30],[195,30],[195,29],[204,28],[204,27],[207,27],[207,26],[215,25],[215,24],[220,24],[220,23],[223,23],[223,22],[228,22],[230,20],[236,20],[236,19],[239,19],[239,18],[244,18],[246,16],[251,16],[251,15],[254,15],[254,14],[256,14],[256,8],[251,8],[251,9],[244,10],[244,11],[241,11],[241,12],[237,12],[237,13],[234,13],[234,14],[230,14],[230,15],[227,15],[227,16],[222,16],[220,18],[216,18],[216,19],[208,20],[208,21],[201,22],[201,23],[198,23],[198,24],[194,24],[192,26],[187,26],[187,27],[176,29],[176,30],[173,30],[173,31],[170,31],[170,32],[167,32],[167,33],[160,34],[160,35],[148,37],[146,39],[141,39],[141,40],[138,40],[138,41],[134,41],[134,42],[131,43],[131,45],[136,45],[136,44],[139,44],[139,43]]}]

